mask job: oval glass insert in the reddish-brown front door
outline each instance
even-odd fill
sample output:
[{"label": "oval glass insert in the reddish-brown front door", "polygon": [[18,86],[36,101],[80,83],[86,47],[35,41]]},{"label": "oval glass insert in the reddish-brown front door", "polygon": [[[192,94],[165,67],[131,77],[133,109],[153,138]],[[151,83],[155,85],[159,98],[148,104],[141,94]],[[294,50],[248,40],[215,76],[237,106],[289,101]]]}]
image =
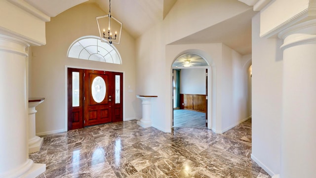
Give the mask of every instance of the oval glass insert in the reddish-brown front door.
[{"label": "oval glass insert in the reddish-brown front door", "polygon": [[102,102],[105,98],[106,91],[104,79],[100,76],[94,78],[91,85],[91,94],[94,101],[97,103]]}]

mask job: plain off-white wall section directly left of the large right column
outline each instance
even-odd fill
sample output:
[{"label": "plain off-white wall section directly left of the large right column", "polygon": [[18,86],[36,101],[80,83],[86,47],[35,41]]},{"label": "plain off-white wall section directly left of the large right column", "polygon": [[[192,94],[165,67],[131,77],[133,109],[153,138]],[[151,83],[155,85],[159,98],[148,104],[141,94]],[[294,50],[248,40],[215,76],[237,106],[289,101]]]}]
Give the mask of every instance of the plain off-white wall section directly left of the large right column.
[{"label": "plain off-white wall section directly left of the large right column", "polygon": [[280,172],[282,41],[263,39],[260,14],[252,19],[252,154],[270,175]]}]

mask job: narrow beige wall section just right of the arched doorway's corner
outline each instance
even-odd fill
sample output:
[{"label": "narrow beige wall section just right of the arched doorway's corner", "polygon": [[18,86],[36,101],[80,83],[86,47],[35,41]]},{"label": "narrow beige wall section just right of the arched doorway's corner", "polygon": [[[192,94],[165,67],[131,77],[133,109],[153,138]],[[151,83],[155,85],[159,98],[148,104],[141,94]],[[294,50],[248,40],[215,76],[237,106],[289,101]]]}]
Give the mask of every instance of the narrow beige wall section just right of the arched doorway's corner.
[{"label": "narrow beige wall section just right of the arched doorway's corner", "polygon": [[[247,114],[247,71],[242,56],[227,45],[222,50],[221,92],[222,127],[225,132],[249,117]],[[217,129],[218,130],[218,129]]]}]

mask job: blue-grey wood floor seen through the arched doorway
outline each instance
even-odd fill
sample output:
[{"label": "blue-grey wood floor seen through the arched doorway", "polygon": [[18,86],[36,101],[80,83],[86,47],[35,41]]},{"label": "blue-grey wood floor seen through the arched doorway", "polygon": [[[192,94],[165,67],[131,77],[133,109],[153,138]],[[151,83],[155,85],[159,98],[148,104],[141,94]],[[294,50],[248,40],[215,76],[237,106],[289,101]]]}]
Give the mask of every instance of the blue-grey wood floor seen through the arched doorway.
[{"label": "blue-grey wood floor seen through the arched doorway", "polygon": [[173,110],[173,127],[206,128],[205,113],[186,109]]}]

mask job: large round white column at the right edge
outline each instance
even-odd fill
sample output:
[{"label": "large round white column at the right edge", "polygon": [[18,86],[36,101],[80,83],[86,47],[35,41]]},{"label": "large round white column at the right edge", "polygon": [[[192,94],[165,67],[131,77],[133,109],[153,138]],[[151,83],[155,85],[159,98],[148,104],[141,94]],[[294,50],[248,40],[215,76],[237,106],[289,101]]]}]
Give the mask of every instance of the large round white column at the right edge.
[{"label": "large round white column at the right edge", "polygon": [[[314,178],[316,168],[316,19],[279,34],[283,49],[280,178]],[[271,86],[273,87],[273,86]]]}]

